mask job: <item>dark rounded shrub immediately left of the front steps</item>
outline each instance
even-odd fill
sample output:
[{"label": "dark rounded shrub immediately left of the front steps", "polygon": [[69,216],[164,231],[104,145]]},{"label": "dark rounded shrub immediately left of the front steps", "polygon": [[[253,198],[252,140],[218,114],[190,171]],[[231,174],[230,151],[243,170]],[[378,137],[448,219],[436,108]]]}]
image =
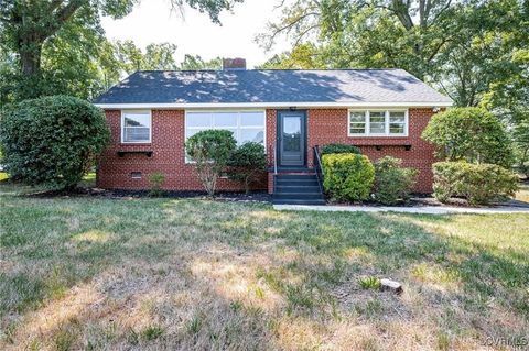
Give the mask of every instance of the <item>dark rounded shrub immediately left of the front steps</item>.
[{"label": "dark rounded shrub immediately left of the front steps", "polygon": [[264,146],[260,143],[248,142],[231,153],[228,162],[229,178],[241,183],[248,194],[250,184],[259,178],[267,168]]}]

